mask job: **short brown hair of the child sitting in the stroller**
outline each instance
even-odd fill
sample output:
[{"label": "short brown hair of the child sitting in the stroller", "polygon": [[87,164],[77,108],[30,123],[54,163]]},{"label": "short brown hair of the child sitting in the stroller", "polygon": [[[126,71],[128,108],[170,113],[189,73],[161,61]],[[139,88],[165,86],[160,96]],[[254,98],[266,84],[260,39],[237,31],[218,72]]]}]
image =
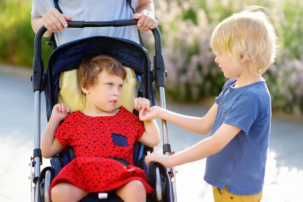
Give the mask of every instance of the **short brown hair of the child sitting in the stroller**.
[{"label": "short brown hair of the child sitting in the stroller", "polygon": [[126,78],[126,70],[119,61],[108,56],[95,56],[82,60],[79,65],[80,87],[87,88],[94,85],[98,74],[104,70],[111,75],[119,76],[123,80]]}]

